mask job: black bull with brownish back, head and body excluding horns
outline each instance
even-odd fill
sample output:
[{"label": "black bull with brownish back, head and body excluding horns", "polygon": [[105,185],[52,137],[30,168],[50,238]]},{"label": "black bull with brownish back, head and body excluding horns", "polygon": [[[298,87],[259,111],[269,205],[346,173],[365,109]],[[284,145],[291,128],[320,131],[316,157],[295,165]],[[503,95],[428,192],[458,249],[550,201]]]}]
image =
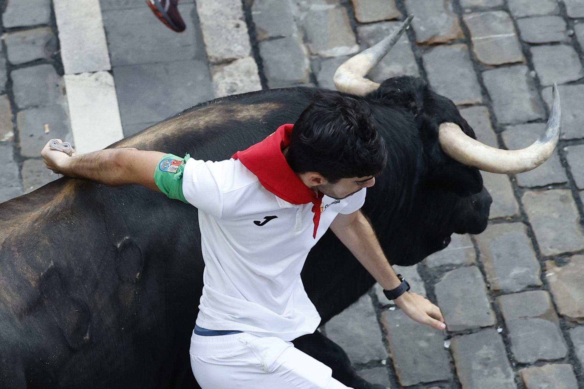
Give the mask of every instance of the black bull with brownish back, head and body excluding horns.
[{"label": "black bull with brownish back, head and body excluding horns", "polygon": [[[112,147],[225,159],[296,121],[317,93],[337,92],[218,99]],[[387,80],[364,99],[389,160],[363,212],[389,260],[412,265],[446,247],[451,233],[482,232],[491,197],[481,176],[437,142],[443,121],[474,137],[454,104],[411,78]],[[147,188],[61,178],[1,204],[0,387],[198,387],[188,349],[203,266],[196,208]],[[302,276],[322,323],[374,284],[331,232]],[[377,387],[318,331],[295,343],[348,386]]]}]

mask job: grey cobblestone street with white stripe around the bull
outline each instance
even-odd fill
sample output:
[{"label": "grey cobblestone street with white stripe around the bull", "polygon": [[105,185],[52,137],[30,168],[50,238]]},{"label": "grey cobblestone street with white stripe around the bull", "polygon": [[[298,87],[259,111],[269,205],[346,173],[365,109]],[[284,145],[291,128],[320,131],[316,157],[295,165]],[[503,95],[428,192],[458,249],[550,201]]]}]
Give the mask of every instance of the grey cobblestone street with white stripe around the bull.
[{"label": "grey cobblestone street with white stripe around the bull", "polygon": [[182,0],[182,34],[144,0],[0,5],[0,202],[57,178],[48,139],[89,152],[214,97],[335,89],[338,65],[406,15],[370,78],[422,77],[487,145],[535,141],[557,83],[557,152],[527,173],[482,173],[486,231],[396,269],[447,330],[414,323],[378,285],[321,330],[391,388],[584,389],[583,0]]}]

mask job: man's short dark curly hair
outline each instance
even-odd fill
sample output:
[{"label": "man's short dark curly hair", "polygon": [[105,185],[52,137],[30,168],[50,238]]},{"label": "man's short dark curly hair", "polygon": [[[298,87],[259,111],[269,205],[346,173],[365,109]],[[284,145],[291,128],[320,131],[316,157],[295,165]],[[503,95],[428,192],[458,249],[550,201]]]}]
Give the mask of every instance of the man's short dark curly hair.
[{"label": "man's short dark curly hair", "polygon": [[387,148],[366,102],[323,93],[294,124],[286,160],[296,173],[316,171],[335,184],[380,173]]}]

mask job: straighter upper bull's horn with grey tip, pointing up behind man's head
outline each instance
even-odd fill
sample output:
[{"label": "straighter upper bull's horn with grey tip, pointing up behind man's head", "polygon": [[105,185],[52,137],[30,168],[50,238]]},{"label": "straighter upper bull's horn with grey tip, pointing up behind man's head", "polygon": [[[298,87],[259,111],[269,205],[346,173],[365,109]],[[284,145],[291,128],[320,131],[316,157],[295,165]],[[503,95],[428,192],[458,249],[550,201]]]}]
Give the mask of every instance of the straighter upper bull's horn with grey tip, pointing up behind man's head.
[{"label": "straighter upper bull's horn with grey tip, pointing up behind man's head", "polygon": [[343,62],[336,69],[335,76],[333,76],[336,89],[339,92],[353,93],[359,96],[365,96],[367,93],[376,90],[379,84],[366,79],[365,76],[391,50],[399,37],[409,27],[412,19],[413,15],[408,16],[408,19],[390,36]]}]

